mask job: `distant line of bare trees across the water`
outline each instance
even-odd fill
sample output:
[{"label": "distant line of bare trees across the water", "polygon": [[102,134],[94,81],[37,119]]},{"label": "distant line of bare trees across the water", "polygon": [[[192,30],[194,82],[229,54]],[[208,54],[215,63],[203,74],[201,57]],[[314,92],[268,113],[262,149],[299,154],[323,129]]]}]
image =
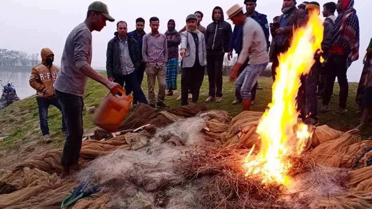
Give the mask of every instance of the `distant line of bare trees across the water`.
[{"label": "distant line of bare trees across the water", "polygon": [[39,54],[0,48],[0,66],[34,66],[39,62]]}]

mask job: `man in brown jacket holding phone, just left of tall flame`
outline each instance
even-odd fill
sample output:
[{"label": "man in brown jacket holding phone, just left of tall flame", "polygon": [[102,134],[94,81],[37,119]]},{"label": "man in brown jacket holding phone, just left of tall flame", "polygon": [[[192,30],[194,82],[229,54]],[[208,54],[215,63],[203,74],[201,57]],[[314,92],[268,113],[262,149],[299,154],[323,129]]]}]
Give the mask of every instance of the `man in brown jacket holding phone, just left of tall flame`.
[{"label": "man in brown jacket holding phone, just left of tall flame", "polygon": [[270,23],[272,42],[270,45],[271,73],[275,81],[276,68],[279,66],[278,55],[288,50],[293,36],[293,28],[301,27],[306,23],[307,15],[304,10],[296,8],[295,0],[283,0],[282,15],[277,23]]}]

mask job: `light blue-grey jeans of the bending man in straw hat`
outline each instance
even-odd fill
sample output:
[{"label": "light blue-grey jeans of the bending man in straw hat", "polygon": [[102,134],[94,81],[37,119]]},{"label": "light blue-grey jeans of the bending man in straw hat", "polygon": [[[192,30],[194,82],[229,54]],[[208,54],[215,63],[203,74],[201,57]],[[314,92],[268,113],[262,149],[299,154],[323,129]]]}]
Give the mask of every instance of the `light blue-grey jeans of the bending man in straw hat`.
[{"label": "light blue-grey jeans of the bending man in straw hat", "polygon": [[237,81],[235,82],[235,89],[240,91],[242,99],[252,98],[252,89],[257,83],[262,71],[265,70],[267,63],[259,65],[248,65],[240,73]]}]

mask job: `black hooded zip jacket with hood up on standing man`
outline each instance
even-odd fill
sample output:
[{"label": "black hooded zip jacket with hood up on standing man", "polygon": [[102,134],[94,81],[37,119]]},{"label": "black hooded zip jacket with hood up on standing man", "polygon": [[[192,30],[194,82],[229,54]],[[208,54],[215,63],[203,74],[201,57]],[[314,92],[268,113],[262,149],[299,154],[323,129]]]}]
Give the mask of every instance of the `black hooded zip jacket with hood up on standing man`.
[{"label": "black hooded zip jacket with hood up on standing man", "polygon": [[[221,19],[216,21],[214,18],[214,11],[221,10]],[[233,34],[230,23],[224,21],[223,10],[221,7],[215,7],[212,12],[213,22],[208,24],[205,31],[205,43],[207,50],[225,51],[228,52],[230,37]]]}]

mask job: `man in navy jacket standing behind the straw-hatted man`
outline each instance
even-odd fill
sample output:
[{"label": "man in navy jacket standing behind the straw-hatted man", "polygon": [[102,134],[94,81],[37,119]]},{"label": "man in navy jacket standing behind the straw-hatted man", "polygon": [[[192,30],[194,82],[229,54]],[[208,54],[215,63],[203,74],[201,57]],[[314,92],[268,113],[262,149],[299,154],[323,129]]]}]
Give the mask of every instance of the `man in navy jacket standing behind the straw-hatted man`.
[{"label": "man in navy jacket standing behind the straw-hatted man", "polygon": [[[244,4],[245,4],[246,11],[247,11],[246,16],[253,18],[255,21],[257,21],[261,25],[261,28],[264,31],[265,37],[266,37],[267,50],[269,50],[270,32],[269,32],[269,24],[267,21],[267,16],[265,14],[261,14],[255,11],[255,8],[257,7],[257,0],[245,0]],[[242,44],[243,44],[243,25],[235,25],[233,35],[231,36],[231,39],[230,39],[229,53],[227,55],[229,60],[231,59],[231,57],[233,57],[234,49],[235,49],[236,54],[238,54],[239,56],[242,50]],[[248,60],[246,62],[248,62]],[[255,99],[255,93],[257,90],[257,86],[258,84],[254,85],[252,89],[252,102]],[[235,100],[233,101],[233,105],[237,105],[241,101],[242,101],[242,97],[240,96],[240,92],[238,90],[235,90]]]}]

